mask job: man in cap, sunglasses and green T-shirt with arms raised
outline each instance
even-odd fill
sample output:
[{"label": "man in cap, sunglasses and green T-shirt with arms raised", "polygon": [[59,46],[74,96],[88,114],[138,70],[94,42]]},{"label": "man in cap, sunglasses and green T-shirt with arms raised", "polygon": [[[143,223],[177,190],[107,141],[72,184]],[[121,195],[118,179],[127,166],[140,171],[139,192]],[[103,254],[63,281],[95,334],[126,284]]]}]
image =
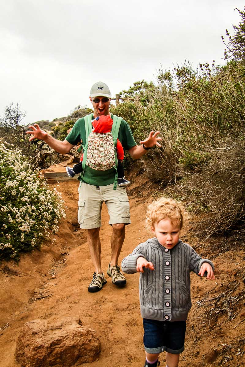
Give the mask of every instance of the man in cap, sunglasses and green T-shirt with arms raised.
[{"label": "man in cap, sunglasses and green T-shirt with arms raised", "polygon": [[[94,108],[93,117],[113,115],[109,112],[111,102],[111,92],[107,84],[99,81],[95,83],[90,90],[90,101]],[[37,124],[29,126],[26,134],[33,135],[29,141],[33,139],[42,139],[51,148],[61,154],[68,153],[73,146],[81,140],[86,142],[86,132],[84,125],[84,117],[76,121],[72,131],[60,141],[51,137],[47,132],[40,129]],[[162,140],[158,137],[159,131],[150,132],[148,138],[141,141],[141,145],[137,145],[129,125],[122,120],[118,139],[122,143],[125,150],[128,150],[131,157],[139,159],[148,149],[157,145],[161,147],[158,141]],[[78,222],[80,228],[88,231],[88,245],[90,255],[94,265],[93,279],[88,287],[89,292],[97,292],[107,283],[104,273],[101,269],[101,243],[100,243],[100,227],[101,227],[101,207],[105,202],[110,216],[109,224],[112,226],[111,237],[111,262],[109,263],[107,274],[112,277],[112,283],[116,286],[124,286],[126,284],[125,276],[120,272],[118,266],[118,258],[125,238],[125,225],[130,224],[129,199],[125,188],[117,186],[114,190],[115,169],[111,168],[107,171],[96,171],[90,167],[84,170],[83,179],[80,177],[79,186],[79,209]]]}]

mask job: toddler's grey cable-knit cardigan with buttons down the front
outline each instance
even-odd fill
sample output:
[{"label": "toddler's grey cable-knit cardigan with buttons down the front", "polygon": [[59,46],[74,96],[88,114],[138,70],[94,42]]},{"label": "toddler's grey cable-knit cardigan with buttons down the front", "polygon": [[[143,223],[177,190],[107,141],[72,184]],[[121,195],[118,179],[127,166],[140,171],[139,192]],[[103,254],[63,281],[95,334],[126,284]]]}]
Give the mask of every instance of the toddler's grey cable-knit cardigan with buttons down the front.
[{"label": "toddler's grey cable-knit cardigan with buttons down the front", "polygon": [[190,272],[198,274],[203,262],[208,262],[214,269],[212,261],[202,259],[181,240],[169,250],[154,237],[140,243],[123,259],[123,272],[136,273],[138,257],[151,261],[155,269],[146,268],[140,273],[141,316],[160,321],[186,320],[191,308]]}]

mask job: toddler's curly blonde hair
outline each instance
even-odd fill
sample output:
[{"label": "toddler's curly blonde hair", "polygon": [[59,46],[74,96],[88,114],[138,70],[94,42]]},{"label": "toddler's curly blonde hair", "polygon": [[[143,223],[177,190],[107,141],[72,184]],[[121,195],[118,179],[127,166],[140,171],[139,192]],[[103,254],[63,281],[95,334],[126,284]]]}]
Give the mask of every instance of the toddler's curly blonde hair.
[{"label": "toddler's curly blonde hair", "polygon": [[161,197],[147,207],[145,226],[151,230],[152,227],[154,228],[154,223],[166,218],[169,218],[172,224],[179,224],[181,229],[190,215],[185,211],[181,201]]}]

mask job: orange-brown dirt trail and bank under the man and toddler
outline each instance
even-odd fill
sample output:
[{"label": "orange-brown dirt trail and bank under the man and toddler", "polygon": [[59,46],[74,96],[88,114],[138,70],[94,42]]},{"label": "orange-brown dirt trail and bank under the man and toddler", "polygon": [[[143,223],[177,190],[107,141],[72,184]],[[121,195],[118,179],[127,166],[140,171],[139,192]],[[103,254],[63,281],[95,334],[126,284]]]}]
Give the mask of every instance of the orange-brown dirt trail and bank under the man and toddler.
[{"label": "orange-brown dirt trail and bank under the man and toddler", "polygon": [[[133,181],[129,190],[132,224],[126,226],[119,263],[138,243],[151,237],[144,229],[144,219],[145,208],[152,196],[141,192],[138,179]],[[65,316],[79,317],[85,325],[97,330],[102,352],[93,366],[144,365],[143,327],[138,301],[139,275],[127,275],[127,285],[121,289],[116,288],[106,275],[108,282],[100,292],[93,294],[87,291],[93,265],[86,244],[86,232],[79,229],[76,219],[77,188],[77,181],[61,182],[57,188],[68,209],[67,218],[59,225],[60,232],[52,236],[53,241],[44,243],[41,251],[22,255],[19,264],[10,261],[0,266],[0,367],[19,366],[14,362],[15,342],[24,323],[46,318],[58,320]],[[108,219],[103,205],[100,235],[105,274],[111,253]],[[206,315],[209,315],[213,302],[196,303],[216,297],[226,291],[228,284],[237,281],[244,272],[244,252],[232,248],[229,251],[226,248],[224,251],[210,250],[212,247],[200,245],[190,233],[186,231],[181,238],[195,245],[200,255],[212,258],[217,270],[216,283],[192,275],[193,307],[187,322],[186,349],[181,354],[180,366],[244,366],[241,354],[244,350],[245,322],[239,323],[245,317],[242,314],[244,299],[237,304],[233,320],[228,319],[225,311],[207,320]],[[221,239],[215,243],[216,247],[219,245],[223,248]],[[51,279],[53,274],[55,279]],[[237,283],[237,294],[240,294],[244,291],[244,284],[242,281]],[[222,344],[231,347],[225,349]],[[236,356],[238,349],[241,353]],[[221,353],[223,350],[224,353]],[[225,364],[222,363],[224,354],[232,357]],[[161,366],[165,366],[165,353],[162,353],[160,360]]]}]

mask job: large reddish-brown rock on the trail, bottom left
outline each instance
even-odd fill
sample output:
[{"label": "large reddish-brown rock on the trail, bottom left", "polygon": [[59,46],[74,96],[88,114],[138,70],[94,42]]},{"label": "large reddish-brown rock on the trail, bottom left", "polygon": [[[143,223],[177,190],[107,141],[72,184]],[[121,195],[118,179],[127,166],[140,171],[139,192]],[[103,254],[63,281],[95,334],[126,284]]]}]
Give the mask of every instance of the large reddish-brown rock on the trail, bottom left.
[{"label": "large reddish-brown rock on the trail, bottom left", "polygon": [[80,319],[34,320],[19,334],[15,361],[22,367],[68,367],[93,362],[100,351],[96,331]]}]

